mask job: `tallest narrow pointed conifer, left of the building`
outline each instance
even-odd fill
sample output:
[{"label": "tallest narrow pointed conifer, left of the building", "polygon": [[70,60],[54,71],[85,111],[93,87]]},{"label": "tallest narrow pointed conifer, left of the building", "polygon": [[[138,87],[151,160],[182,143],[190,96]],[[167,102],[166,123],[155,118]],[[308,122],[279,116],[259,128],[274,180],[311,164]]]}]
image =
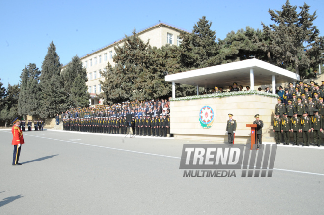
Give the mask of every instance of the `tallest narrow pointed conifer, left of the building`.
[{"label": "tallest narrow pointed conifer, left of the building", "polygon": [[54,117],[66,109],[63,80],[60,76],[62,64],[56,53],[56,47],[51,42],[42,64],[40,75],[41,106],[39,116],[42,118]]}]

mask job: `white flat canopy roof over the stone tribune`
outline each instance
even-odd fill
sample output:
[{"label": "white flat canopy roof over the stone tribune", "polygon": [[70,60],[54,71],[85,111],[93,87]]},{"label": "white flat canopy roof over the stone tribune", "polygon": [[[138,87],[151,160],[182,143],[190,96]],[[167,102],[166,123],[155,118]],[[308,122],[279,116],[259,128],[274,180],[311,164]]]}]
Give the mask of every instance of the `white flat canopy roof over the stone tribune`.
[{"label": "white flat canopy roof over the stone tribune", "polygon": [[215,86],[227,88],[233,85],[233,82],[237,82],[243,87],[271,85],[274,82],[273,75],[277,83],[300,80],[300,76],[296,73],[258,59],[249,59],[167,75],[165,81],[206,88]]}]

